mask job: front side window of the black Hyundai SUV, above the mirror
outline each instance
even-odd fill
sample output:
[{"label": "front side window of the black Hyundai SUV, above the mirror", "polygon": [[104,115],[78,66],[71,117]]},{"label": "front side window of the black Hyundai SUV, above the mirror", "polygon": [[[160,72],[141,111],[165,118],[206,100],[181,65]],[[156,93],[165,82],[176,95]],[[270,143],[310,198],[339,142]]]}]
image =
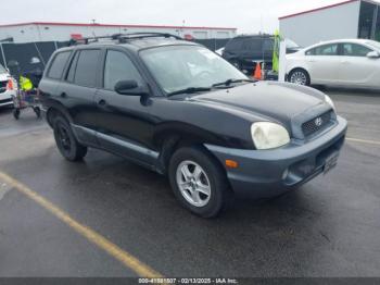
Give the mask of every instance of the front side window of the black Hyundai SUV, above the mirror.
[{"label": "front side window of the black Hyundai SUV, above the mirror", "polygon": [[110,50],[105,59],[104,88],[114,90],[116,83],[119,80],[137,80],[141,83],[141,76],[126,54]]}]

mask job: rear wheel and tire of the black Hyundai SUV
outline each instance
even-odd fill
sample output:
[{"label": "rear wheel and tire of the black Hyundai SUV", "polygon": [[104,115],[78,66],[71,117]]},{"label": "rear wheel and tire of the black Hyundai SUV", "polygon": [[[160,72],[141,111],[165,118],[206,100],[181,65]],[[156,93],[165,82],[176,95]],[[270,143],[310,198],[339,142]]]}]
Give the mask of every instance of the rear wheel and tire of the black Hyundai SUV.
[{"label": "rear wheel and tire of the black Hyundai SUV", "polygon": [[80,145],[65,119],[54,120],[54,138],[61,154],[68,161],[79,161],[87,154],[87,147]]}]

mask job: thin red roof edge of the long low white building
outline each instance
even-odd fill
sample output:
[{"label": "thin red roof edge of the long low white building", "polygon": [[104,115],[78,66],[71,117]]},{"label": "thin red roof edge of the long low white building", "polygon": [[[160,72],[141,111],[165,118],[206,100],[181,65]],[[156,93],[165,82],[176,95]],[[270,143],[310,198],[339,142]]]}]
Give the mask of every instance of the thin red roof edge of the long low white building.
[{"label": "thin red roof edge of the long low white building", "polygon": [[237,30],[236,27],[200,27],[200,26],[166,26],[166,25],[126,25],[126,24],[84,24],[84,23],[58,23],[58,22],[27,22],[0,25],[0,27],[16,27],[27,25],[40,25],[40,26],[80,26],[80,27],[137,27],[137,28],[191,28],[191,29],[225,29]]}]

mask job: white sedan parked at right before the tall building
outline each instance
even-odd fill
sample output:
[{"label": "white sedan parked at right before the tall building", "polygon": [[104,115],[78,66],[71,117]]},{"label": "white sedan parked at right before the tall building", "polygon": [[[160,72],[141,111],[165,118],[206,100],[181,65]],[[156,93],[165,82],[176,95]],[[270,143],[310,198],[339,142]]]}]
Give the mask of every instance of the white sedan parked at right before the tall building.
[{"label": "white sedan parked at right before the tall building", "polygon": [[380,42],[331,40],[287,55],[287,78],[300,85],[380,88]]}]

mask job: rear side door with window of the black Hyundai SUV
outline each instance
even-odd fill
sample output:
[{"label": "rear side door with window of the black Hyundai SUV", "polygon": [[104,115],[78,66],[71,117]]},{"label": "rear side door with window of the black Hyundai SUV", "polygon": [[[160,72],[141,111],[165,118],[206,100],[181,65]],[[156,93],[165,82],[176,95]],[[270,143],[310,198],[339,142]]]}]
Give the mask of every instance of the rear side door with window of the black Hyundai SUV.
[{"label": "rear side door with window of the black Hyundai SUV", "polygon": [[99,86],[100,55],[100,49],[77,50],[58,87],[60,100],[73,119],[73,129],[81,142],[90,146],[98,145],[94,94]]}]

